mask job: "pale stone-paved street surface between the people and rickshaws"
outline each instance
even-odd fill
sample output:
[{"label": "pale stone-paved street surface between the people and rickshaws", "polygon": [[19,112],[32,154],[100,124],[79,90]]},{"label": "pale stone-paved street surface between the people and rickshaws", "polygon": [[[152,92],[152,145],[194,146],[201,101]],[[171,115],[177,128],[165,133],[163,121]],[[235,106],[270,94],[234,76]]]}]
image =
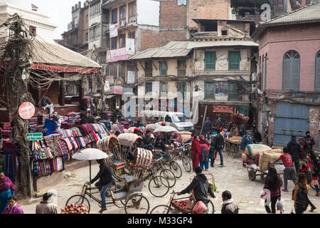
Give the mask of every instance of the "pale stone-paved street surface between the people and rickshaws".
[{"label": "pale stone-paved street surface between the people and rickshaws", "polygon": [[[220,167],[220,158],[215,161],[216,167],[209,169],[208,172],[213,173],[215,177],[215,183],[218,187],[218,197],[213,200],[215,204],[215,209],[217,214],[220,214],[220,205],[222,203],[221,193],[224,190],[229,190],[232,195],[235,203],[239,206],[239,213],[241,214],[265,214],[265,207],[261,204],[260,201],[260,193],[263,187],[262,182],[260,182],[260,177],[257,177],[255,182],[249,180],[247,176],[247,170],[242,167],[242,162],[240,159],[233,159],[228,157],[227,155],[224,156],[225,165],[226,167]],[[95,175],[98,171],[98,165],[94,165],[92,167],[92,175]],[[174,186],[175,191],[181,191],[184,187],[190,183],[190,177],[193,173],[183,172],[183,176],[180,179],[177,179],[176,185]],[[58,207],[64,207],[65,202],[68,198],[72,195],[79,194],[81,191],[82,184],[85,183],[89,179],[89,167],[82,168],[77,170],[76,172],[72,173],[72,176],[68,179],[68,181],[61,182],[55,187],[50,187],[49,189],[58,190]],[[166,204],[169,200],[170,195],[166,195],[163,198],[156,198],[152,197],[149,194],[149,190],[147,188],[148,182],[145,182],[144,192],[149,195],[149,202],[150,208],[152,209],[158,204]],[[291,200],[291,193],[294,185],[292,182],[289,182],[289,192],[282,192],[282,199],[285,202],[285,212],[290,213],[293,207],[293,201]],[[44,191],[41,191],[44,192]],[[171,192],[171,190],[170,190]],[[311,202],[318,207],[316,211],[312,212],[319,213],[320,212],[320,198],[315,196],[315,190],[310,190],[309,197]],[[100,195],[97,194],[97,197],[100,198]],[[27,214],[32,214],[35,212],[36,204],[40,202],[40,198],[34,201],[31,204],[28,202],[19,202]],[[97,203],[93,200],[90,200],[91,204],[91,212],[90,213],[97,213],[99,211],[99,207]],[[119,202],[119,204],[121,204]],[[105,213],[116,213],[122,214],[124,213],[124,209],[118,209],[114,205],[109,206],[107,212]],[[311,212],[306,212],[309,214]]]}]

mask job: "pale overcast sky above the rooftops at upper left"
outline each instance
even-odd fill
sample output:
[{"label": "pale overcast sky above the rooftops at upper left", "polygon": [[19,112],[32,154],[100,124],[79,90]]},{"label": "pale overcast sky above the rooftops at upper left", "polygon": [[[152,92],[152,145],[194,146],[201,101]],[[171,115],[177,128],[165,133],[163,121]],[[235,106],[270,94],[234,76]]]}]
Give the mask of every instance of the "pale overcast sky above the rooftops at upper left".
[{"label": "pale overcast sky above the rooftops at upper left", "polygon": [[[54,32],[54,39],[61,38],[61,34],[68,29],[71,22],[71,8],[80,0],[0,0],[16,6],[31,9],[31,4],[38,6],[38,12],[50,16],[51,22],[57,26]],[[82,6],[83,6],[83,2]]]}]

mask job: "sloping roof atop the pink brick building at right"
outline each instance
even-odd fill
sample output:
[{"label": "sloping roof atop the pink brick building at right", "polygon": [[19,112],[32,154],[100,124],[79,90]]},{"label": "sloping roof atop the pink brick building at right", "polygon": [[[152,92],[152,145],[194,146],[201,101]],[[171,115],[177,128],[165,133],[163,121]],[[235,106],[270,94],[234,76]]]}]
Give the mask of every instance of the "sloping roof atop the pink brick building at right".
[{"label": "sloping roof atop the pink brick building at right", "polygon": [[280,26],[285,24],[304,24],[320,21],[320,1],[309,4],[275,19],[261,23],[260,27]]}]

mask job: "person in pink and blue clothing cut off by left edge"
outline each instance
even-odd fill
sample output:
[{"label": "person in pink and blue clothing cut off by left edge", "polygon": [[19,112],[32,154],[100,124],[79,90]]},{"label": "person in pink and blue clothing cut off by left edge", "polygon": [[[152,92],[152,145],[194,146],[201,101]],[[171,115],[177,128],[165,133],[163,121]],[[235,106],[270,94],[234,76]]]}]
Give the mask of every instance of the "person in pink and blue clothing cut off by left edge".
[{"label": "person in pink and blue clothing cut off by left edge", "polygon": [[0,172],[0,214],[4,212],[4,208],[9,205],[9,197],[16,193],[16,187],[9,177]]}]

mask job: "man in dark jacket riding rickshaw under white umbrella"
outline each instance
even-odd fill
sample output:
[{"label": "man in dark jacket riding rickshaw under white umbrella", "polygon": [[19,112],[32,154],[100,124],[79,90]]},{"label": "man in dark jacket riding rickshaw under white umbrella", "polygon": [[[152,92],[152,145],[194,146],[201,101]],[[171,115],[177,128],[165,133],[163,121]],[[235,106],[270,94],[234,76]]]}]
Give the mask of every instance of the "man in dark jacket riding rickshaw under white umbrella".
[{"label": "man in dark jacket riding rickshaw under white umbrella", "polygon": [[106,203],[105,203],[105,194],[107,192],[108,187],[112,184],[113,178],[112,178],[112,172],[110,168],[108,167],[107,163],[104,159],[97,160],[97,162],[100,164],[100,170],[97,173],[97,176],[90,180],[90,182],[87,182],[87,185],[91,185],[94,182],[96,182],[98,179],[100,179],[96,184],[95,187],[97,187],[100,190],[100,196],[102,199],[101,203],[101,209],[99,213],[104,212],[107,210]]}]

